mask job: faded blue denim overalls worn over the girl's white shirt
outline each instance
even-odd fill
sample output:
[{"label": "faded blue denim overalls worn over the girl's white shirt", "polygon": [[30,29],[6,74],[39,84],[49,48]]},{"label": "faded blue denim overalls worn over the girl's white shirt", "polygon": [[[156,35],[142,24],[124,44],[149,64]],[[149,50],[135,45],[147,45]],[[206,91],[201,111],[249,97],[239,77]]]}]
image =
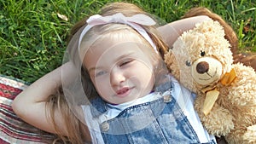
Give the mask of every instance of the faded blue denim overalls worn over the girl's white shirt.
[{"label": "faded blue denim overalls worn over the girl's white shirt", "polygon": [[[172,96],[172,82],[161,84],[156,91],[163,96],[154,101],[128,107],[117,117],[102,122],[98,122],[98,118],[107,111],[106,103],[101,98],[91,101],[90,123],[97,121],[88,125],[90,132],[93,133],[92,139],[95,139],[93,143],[101,144],[103,141],[106,144],[201,143],[182,108]],[[207,141],[207,143],[215,143],[215,141]]]}]

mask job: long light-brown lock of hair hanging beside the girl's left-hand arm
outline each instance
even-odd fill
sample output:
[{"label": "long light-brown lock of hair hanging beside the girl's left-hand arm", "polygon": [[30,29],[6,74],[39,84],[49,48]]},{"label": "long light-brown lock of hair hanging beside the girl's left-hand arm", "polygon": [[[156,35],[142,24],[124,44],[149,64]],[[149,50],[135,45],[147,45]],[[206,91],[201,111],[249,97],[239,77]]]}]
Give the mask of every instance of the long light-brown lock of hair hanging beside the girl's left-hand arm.
[{"label": "long light-brown lock of hair hanging beside the girl's left-hand arm", "polygon": [[[46,106],[46,113],[52,124],[55,125],[55,136],[52,140],[46,141],[53,144],[84,144],[90,143],[90,134],[88,128],[80,122],[67,105],[67,101],[63,95],[61,87],[56,91],[55,95],[50,95]],[[49,109],[50,108],[50,109]],[[55,122],[55,112],[61,112],[64,124],[63,129],[67,130],[67,135],[61,134],[61,130]]]}]

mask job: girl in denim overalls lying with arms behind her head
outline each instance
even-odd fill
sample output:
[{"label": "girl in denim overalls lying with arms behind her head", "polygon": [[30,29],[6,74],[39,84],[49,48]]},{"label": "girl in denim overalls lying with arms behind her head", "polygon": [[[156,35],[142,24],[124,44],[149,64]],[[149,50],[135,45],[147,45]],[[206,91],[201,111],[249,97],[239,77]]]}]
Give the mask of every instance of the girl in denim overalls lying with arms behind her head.
[{"label": "girl in denim overalls lying with arms behind her head", "polygon": [[15,113],[70,143],[215,143],[193,95],[160,59],[183,31],[209,18],[161,27],[170,36],[164,43],[154,20],[131,3],[111,3],[100,14],[74,26],[71,60],[20,93]]}]

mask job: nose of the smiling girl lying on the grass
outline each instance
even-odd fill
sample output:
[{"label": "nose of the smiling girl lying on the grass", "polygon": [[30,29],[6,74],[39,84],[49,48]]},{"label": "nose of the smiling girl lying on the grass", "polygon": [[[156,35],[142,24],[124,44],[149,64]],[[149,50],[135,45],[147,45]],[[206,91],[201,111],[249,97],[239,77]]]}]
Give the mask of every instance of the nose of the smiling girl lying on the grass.
[{"label": "nose of the smiling girl lying on the grass", "polygon": [[112,85],[119,85],[123,82],[125,82],[124,73],[120,71],[118,68],[113,69],[110,73],[110,83]]}]

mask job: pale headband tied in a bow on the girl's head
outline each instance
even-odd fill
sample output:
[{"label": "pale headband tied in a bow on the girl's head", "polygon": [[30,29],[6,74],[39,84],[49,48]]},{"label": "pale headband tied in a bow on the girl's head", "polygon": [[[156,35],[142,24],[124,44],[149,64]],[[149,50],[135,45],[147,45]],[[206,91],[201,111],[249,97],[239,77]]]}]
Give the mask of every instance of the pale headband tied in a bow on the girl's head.
[{"label": "pale headband tied in a bow on the girl's head", "polygon": [[125,15],[121,13],[104,16],[104,17],[100,14],[95,14],[90,16],[90,18],[86,22],[88,25],[84,27],[84,30],[81,32],[79,37],[79,50],[80,50],[80,43],[85,33],[88,32],[91,27],[97,26],[97,25],[109,24],[109,23],[121,23],[121,24],[129,25],[132,28],[134,28],[137,32],[139,32],[157,52],[156,46],[153,43],[152,39],[148,36],[148,33],[143,29],[142,26],[139,26],[139,25],[143,25],[143,26],[155,25],[154,20],[145,14],[135,14],[131,17],[125,17]]}]

